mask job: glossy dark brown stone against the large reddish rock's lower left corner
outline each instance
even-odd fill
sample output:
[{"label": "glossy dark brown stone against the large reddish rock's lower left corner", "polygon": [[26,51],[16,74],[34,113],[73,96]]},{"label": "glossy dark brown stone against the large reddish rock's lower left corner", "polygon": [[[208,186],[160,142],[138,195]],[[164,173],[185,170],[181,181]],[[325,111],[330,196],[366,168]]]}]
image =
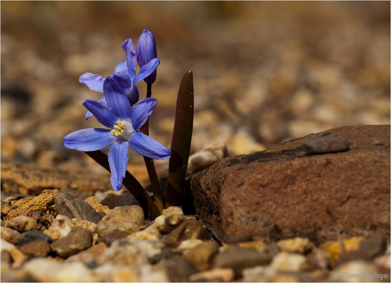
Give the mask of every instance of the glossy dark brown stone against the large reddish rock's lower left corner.
[{"label": "glossy dark brown stone against the large reddish rock's lower left corner", "polygon": [[205,227],[197,220],[187,220],[176,227],[165,238],[164,243],[167,247],[178,247],[183,240],[187,239],[201,239],[208,240],[208,232]]}]

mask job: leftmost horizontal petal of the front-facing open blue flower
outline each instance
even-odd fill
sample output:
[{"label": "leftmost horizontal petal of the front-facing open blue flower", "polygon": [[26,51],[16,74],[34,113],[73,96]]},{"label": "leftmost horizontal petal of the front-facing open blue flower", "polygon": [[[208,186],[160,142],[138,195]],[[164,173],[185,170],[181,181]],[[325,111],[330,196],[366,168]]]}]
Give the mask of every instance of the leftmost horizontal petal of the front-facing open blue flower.
[{"label": "leftmost horizontal petal of the front-facing open blue flower", "polygon": [[72,150],[94,151],[107,148],[117,138],[109,129],[88,128],[68,133],[63,139],[64,145]]}]

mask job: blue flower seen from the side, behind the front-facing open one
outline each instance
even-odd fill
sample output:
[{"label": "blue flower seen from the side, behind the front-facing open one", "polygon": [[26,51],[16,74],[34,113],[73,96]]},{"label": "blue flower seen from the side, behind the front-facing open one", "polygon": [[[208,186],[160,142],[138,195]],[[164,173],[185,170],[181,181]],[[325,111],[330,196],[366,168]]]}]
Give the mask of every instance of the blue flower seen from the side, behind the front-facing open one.
[{"label": "blue flower seen from the side, behind the front-facing open one", "polygon": [[[122,43],[122,49],[126,52],[126,61],[122,61],[115,66],[114,72],[110,78],[117,81],[118,85],[120,85],[127,96],[130,105],[133,105],[138,101],[136,83],[154,73],[160,64],[160,60],[159,58],[152,59],[140,68],[140,72],[138,72],[136,76],[137,54],[130,38]],[[82,83],[86,87],[97,92],[103,92],[103,82],[104,79],[99,74],[85,73],[79,78],[79,83]],[[99,99],[99,102],[106,103],[105,97]],[[86,114],[86,120],[91,116],[92,113],[88,111]]]}]

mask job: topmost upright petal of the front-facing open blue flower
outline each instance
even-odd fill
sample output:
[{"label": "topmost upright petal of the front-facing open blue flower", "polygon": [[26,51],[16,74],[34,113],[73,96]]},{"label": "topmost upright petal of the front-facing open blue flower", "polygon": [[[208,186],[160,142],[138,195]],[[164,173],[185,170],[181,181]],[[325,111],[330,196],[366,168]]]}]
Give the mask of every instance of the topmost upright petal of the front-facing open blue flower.
[{"label": "topmost upright petal of the front-facing open blue flower", "polygon": [[122,90],[117,81],[107,77],[104,80],[103,90],[107,106],[111,108],[111,111],[121,119],[129,120],[132,114],[132,107],[124,90]]}]

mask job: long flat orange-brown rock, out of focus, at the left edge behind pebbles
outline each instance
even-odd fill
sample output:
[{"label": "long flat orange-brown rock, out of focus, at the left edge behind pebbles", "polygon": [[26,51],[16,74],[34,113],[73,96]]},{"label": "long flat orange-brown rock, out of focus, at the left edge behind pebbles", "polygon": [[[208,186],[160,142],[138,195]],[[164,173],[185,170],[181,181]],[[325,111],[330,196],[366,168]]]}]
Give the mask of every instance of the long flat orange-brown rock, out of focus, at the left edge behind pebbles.
[{"label": "long flat orange-brown rock, out of focus, at the left edge behind pebbles", "polygon": [[45,189],[90,193],[111,189],[109,174],[91,173],[88,169],[65,171],[29,163],[1,163],[0,171],[2,189],[13,194],[39,195]]}]

